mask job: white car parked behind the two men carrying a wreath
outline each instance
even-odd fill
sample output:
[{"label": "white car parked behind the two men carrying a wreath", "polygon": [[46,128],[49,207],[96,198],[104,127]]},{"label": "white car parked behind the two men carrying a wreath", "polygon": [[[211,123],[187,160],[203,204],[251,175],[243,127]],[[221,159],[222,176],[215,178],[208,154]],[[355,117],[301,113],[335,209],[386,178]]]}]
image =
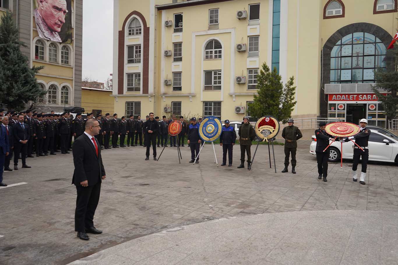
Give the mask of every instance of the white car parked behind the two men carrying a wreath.
[{"label": "white car parked behind the two men carrying a wreath", "polygon": [[[343,158],[353,159],[354,143],[343,142]],[[369,136],[369,160],[381,162],[395,162],[398,163],[398,142],[397,140],[380,133],[376,130],[371,130]],[[333,142],[330,145],[330,162],[337,162],[341,158],[341,143]],[[312,142],[310,144],[310,153],[315,154],[316,136],[312,135]]]}]

